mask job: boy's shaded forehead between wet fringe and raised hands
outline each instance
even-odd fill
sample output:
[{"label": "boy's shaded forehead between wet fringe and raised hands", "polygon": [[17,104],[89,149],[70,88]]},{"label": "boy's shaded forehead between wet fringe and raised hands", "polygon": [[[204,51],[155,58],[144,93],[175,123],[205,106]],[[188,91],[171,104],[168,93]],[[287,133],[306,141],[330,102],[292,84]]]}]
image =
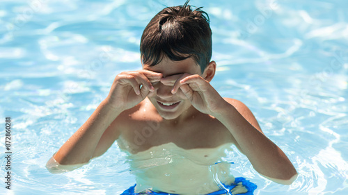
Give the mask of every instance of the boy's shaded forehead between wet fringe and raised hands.
[{"label": "boy's shaded forehead between wet fringe and raised hands", "polygon": [[196,64],[192,58],[187,58],[181,61],[173,61],[168,58],[163,58],[155,66],[143,65],[143,69],[155,71],[163,74],[164,77],[175,74],[200,74],[200,66]]}]

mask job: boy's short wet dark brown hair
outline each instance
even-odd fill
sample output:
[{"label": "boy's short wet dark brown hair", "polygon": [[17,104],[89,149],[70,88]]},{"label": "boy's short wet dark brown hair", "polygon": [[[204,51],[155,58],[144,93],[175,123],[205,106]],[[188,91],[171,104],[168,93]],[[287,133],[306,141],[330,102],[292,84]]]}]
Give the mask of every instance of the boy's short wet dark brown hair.
[{"label": "boy's short wet dark brown hair", "polygon": [[209,16],[188,3],[164,8],[151,19],[141,36],[143,64],[157,65],[164,56],[173,61],[193,57],[203,73],[212,58]]}]

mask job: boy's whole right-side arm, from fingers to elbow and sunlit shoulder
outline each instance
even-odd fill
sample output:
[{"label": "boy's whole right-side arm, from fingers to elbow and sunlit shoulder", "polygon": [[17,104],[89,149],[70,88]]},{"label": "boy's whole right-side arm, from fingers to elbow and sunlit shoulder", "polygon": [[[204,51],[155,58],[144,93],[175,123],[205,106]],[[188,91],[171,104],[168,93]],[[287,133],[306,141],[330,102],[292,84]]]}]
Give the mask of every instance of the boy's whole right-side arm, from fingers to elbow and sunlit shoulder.
[{"label": "boy's whole right-side arm, from fingers to elbow and sunlit shoulder", "polygon": [[[209,68],[209,67],[208,67]],[[297,176],[296,169],[285,153],[268,139],[246,105],[224,100],[210,85],[208,78],[183,74],[175,79],[172,93],[182,92],[197,110],[219,119],[236,140],[256,171],[276,183],[290,185]],[[162,78],[162,83],[173,83],[173,78]],[[180,89],[180,91],[179,91]]]}]

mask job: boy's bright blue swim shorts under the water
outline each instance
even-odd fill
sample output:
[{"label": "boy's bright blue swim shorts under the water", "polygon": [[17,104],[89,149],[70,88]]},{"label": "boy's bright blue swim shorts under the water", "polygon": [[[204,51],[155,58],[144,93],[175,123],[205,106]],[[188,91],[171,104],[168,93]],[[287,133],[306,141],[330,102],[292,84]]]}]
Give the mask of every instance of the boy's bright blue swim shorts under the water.
[{"label": "boy's bright blue swim shorts under the water", "polygon": [[[241,183],[244,185],[244,187],[246,187],[246,189],[248,189],[248,192],[244,193],[243,195],[253,195],[255,189],[258,187],[257,185],[255,185],[254,183],[251,183],[249,180],[246,180],[245,178],[235,178],[235,184],[231,184],[231,185],[224,185],[225,189],[220,189],[219,191],[216,192],[212,192],[209,193],[207,195],[219,195],[219,194],[226,194],[229,195],[230,194],[230,190],[233,189],[234,187],[237,186],[237,183]],[[125,192],[123,192],[120,195],[138,195],[139,193],[135,193],[134,192],[134,188],[136,185],[129,187],[129,189],[127,189]],[[179,195],[179,194],[168,194],[168,193],[164,193],[164,192],[146,192],[146,194],[153,194],[153,195]]]}]

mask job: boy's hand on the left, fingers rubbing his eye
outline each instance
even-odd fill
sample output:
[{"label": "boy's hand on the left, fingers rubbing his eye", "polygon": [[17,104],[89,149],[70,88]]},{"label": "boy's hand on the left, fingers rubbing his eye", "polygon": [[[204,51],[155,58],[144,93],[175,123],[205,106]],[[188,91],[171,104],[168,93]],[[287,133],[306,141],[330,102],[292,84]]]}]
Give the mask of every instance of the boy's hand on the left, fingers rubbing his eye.
[{"label": "boy's hand on the left, fingers rubbing his eye", "polygon": [[122,111],[133,108],[155,90],[151,83],[162,77],[161,73],[145,69],[122,72],[113,80],[106,100],[112,108]]}]

